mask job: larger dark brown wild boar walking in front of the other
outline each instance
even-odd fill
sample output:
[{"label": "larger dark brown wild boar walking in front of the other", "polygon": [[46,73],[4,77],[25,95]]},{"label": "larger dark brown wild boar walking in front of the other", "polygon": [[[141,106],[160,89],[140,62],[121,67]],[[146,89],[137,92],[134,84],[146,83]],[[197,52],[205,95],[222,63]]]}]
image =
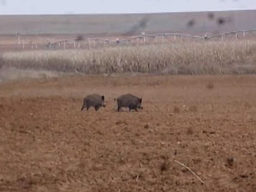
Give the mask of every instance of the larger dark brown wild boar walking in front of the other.
[{"label": "larger dark brown wild boar walking in front of the other", "polygon": [[122,107],[129,107],[129,111],[137,109],[143,109],[141,106],[142,98],[134,96],[132,94],[125,94],[114,99],[117,101],[117,111],[119,111]]}]

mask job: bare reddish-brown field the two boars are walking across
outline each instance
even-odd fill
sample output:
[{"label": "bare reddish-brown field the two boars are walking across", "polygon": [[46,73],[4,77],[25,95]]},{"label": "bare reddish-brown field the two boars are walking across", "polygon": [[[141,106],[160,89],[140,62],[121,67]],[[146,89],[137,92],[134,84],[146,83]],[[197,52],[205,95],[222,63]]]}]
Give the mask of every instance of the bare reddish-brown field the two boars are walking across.
[{"label": "bare reddish-brown field the two boars are walking across", "polygon": [[[73,76],[0,88],[0,191],[256,191],[256,76]],[[106,108],[81,112],[94,92]],[[127,92],[144,110],[116,112],[114,97]]]}]

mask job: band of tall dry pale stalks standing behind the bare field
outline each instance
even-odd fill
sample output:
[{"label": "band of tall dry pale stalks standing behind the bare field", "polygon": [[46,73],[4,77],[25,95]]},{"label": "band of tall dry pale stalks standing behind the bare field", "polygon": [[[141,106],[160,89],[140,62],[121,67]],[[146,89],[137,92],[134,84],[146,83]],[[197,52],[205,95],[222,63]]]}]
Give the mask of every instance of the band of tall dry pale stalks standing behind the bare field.
[{"label": "band of tall dry pale stalks standing behind the bare field", "polygon": [[122,46],[92,50],[45,50],[3,54],[4,64],[84,74],[256,73],[256,41],[204,41],[169,45]]}]

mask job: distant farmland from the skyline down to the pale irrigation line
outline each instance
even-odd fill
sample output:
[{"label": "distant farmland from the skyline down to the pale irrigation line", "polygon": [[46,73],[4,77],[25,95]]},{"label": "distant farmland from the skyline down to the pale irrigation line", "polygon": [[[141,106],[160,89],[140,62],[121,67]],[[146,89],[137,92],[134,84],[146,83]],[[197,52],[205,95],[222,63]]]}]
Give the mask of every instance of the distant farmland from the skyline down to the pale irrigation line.
[{"label": "distant farmland from the skyline down to the pale irrigation line", "polygon": [[[212,14],[212,18],[209,17],[209,13]],[[145,18],[148,19],[146,25],[136,28],[141,19]],[[0,26],[3,26],[0,28],[0,49],[1,51],[28,50],[31,49],[31,44],[36,45],[37,49],[44,49],[49,42],[75,39],[78,35],[84,38],[125,39],[131,37],[124,36],[125,32],[134,27],[132,35],[141,32],[220,34],[254,29],[255,18],[256,10],[120,15],[2,15],[0,16]],[[20,44],[18,33],[20,33]],[[255,34],[246,34],[247,39],[255,37]],[[23,43],[24,47],[21,49]],[[72,47],[73,42],[69,45],[69,48]],[[88,48],[88,45],[84,44],[81,48]]]}]

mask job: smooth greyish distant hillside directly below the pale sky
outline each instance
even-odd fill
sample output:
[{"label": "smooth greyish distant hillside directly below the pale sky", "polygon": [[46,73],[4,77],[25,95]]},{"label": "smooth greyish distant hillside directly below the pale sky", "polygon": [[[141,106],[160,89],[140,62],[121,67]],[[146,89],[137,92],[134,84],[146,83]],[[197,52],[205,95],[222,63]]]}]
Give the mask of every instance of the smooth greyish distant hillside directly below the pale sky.
[{"label": "smooth greyish distant hillside directly below the pale sky", "polygon": [[[17,15],[0,16],[0,34],[113,34],[129,30],[140,19],[148,17],[145,32],[223,32],[256,28],[256,10],[219,11],[209,19],[208,12],[102,15]],[[227,20],[219,25],[218,18]],[[188,27],[190,20],[195,25]]]}]

